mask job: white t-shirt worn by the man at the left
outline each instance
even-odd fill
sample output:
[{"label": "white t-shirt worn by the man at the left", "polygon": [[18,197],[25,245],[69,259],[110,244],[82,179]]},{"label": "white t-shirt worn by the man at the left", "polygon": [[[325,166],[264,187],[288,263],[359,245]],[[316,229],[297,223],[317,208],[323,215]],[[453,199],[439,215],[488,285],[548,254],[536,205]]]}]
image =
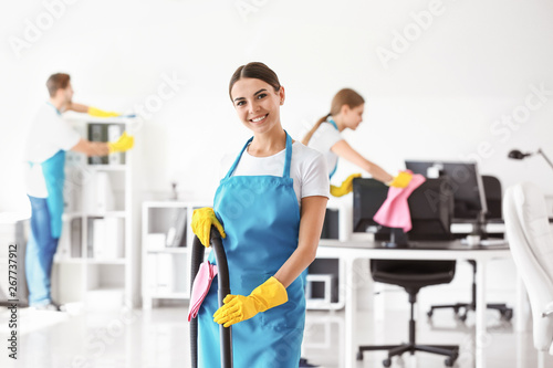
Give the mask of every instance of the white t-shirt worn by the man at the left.
[{"label": "white t-shirt worn by the man at the left", "polygon": [[[60,149],[74,147],[81,136],[58,113],[50,103],[39,107],[29,126],[24,160],[27,167],[27,193],[32,197],[48,197],[46,183],[40,164],[54,156]],[[32,167],[29,162],[33,162]]]}]

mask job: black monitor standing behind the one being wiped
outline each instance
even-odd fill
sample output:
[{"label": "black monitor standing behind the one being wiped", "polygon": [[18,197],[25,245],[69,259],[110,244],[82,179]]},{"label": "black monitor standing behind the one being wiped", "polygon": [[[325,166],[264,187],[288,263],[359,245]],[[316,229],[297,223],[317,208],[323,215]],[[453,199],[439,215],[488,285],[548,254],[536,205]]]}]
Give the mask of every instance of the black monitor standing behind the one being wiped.
[{"label": "black monitor standing behind the one being wiped", "polygon": [[487,212],[482,178],[476,162],[411,161],[405,166],[427,178],[447,178],[453,192],[453,218],[477,220]]}]

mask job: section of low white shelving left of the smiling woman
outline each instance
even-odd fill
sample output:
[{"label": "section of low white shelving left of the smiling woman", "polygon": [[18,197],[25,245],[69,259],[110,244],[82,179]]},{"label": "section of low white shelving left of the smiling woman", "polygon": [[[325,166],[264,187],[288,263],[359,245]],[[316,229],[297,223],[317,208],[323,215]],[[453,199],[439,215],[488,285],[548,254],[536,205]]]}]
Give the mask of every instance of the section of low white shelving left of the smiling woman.
[{"label": "section of low white shelving left of the smiling woman", "polygon": [[[143,203],[142,295],[143,307],[157,306],[159,299],[190,297],[190,255],[194,233],[192,212],[209,203],[148,201]],[[169,229],[186,215],[184,246],[166,246]]]}]

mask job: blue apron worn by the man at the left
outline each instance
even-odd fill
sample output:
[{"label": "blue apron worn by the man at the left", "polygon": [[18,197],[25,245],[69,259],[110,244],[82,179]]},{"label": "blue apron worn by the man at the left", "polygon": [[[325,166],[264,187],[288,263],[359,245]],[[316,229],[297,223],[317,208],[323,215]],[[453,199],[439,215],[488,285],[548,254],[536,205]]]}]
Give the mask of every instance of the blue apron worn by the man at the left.
[{"label": "blue apron worn by the man at the left", "polygon": [[[29,162],[33,167],[33,162]],[[40,164],[46,183],[48,211],[50,212],[50,229],[52,238],[59,239],[62,234],[63,214],[63,183],[65,182],[65,151],[60,149],[54,156]]]}]

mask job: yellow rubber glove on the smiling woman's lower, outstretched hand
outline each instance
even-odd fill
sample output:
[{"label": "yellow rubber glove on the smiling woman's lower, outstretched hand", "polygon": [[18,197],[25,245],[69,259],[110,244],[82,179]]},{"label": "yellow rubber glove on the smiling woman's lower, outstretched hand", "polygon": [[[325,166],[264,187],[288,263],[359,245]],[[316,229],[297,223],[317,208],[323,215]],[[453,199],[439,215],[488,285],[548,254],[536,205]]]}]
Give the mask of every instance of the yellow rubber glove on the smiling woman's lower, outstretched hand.
[{"label": "yellow rubber glove on the smiling woman's lower, outstretched hand", "polygon": [[284,285],[274,277],[259,285],[249,296],[227,295],[225,303],[213,314],[213,320],[219,325],[229,327],[239,322],[250,319],[260,312],[265,312],[272,307],[288,302],[288,293]]}]

